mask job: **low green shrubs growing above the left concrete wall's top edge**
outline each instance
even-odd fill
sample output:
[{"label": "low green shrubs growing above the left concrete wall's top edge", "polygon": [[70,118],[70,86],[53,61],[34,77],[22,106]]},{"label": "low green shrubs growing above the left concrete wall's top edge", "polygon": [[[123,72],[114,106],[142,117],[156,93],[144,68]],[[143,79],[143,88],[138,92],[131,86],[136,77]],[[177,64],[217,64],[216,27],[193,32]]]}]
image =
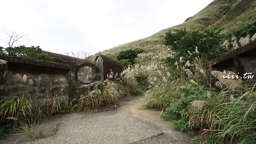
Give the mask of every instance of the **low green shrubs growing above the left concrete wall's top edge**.
[{"label": "low green shrubs growing above the left concrete wall's top edge", "polygon": [[13,48],[12,47],[7,47],[7,48],[0,47],[0,48],[1,48],[0,54],[2,55],[17,56],[22,58],[53,62],[51,55],[43,53],[42,49],[39,48],[39,46],[37,47],[18,46]]}]

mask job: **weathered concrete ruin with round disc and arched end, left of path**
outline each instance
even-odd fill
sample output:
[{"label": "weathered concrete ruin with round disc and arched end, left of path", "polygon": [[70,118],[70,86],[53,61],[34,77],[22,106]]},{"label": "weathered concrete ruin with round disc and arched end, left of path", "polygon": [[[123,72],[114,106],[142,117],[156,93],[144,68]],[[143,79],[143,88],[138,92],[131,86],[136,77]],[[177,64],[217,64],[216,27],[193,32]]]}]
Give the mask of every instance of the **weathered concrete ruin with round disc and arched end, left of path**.
[{"label": "weathered concrete ruin with round disc and arched end, left of path", "polygon": [[105,80],[111,70],[118,74],[122,72],[118,60],[102,54],[98,54],[100,60],[96,58],[96,62],[100,64],[96,66],[89,60],[44,53],[51,54],[56,63],[0,55],[0,59],[8,61],[0,65],[0,99],[24,95],[30,97],[33,105],[37,106],[51,101],[58,92],[58,100],[70,102],[75,97],[76,80],[90,84]]}]

